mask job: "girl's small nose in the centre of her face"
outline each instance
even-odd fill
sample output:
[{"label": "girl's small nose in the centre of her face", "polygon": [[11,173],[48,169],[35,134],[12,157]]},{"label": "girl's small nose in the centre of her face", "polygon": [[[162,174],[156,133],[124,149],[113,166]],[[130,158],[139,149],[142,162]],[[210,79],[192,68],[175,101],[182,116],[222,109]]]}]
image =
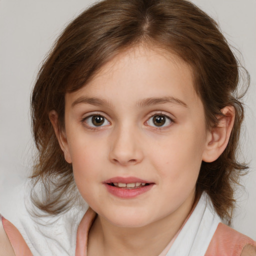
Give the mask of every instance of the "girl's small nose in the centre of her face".
[{"label": "girl's small nose in the centre of her face", "polygon": [[142,161],[143,152],[139,132],[131,127],[120,127],[112,131],[109,160],[120,165],[134,165]]}]

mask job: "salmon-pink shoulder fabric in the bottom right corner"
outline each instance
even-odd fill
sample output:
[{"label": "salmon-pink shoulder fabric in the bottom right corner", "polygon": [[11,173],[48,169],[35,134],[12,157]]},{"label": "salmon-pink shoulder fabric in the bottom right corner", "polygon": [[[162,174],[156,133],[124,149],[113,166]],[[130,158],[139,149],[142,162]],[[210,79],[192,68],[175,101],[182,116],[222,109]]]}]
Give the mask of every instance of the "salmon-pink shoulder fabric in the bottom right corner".
[{"label": "salmon-pink shoulder fabric in the bottom right corner", "polygon": [[223,223],[219,223],[205,256],[240,256],[243,247],[247,244],[256,248],[256,242],[251,238]]}]

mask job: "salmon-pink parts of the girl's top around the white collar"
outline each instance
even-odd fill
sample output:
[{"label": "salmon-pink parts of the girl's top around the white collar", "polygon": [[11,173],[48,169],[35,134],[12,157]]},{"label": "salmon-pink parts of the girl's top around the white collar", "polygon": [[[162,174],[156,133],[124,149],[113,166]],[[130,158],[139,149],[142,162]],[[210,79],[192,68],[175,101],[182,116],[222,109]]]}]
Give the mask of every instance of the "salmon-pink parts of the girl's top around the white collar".
[{"label": "salmon-pink parts of the girl's top around the white collar", "polygon": [[[95,217],[96,213],[89,208],[81,219],[76,233],[75,256],[86,256],[88,233]],[[16,227],[3,217],[1,217],[1,220],[16,256],[32,256],[31,251],[27,247],[23,237]],[[179,231],[159,256],[166,255]],[[243,247],[247,244],[251,244],[256,248],[255,241],[246,235],[235,231],[231,227],[223,223],[219,223],[207,248],[205,256],[240,256]]]}]

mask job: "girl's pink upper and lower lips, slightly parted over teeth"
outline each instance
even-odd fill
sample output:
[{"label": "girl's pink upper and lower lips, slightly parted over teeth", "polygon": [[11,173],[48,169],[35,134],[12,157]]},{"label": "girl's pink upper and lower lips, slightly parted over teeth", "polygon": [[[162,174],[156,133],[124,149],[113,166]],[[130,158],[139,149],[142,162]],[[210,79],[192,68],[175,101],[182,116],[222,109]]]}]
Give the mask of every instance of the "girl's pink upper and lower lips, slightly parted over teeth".
[{"label": "girl's pink upper and lower lips, slightly parted over teeth", "polygon": [[[138,187],[138,188],[124,188],[124,187],[112,186],[109,184],[114,182],[116,183],[141,182],[141,183],[148,183],[148,185]],[[144,180],[144,179],[136,178],[136,177],[113,177],[103,181],[103,184],[105,185],[107,191],[112,195],[119,198],[128,199],[128,198],[137,197],[138,195],[149,191],[155,183]]]}]

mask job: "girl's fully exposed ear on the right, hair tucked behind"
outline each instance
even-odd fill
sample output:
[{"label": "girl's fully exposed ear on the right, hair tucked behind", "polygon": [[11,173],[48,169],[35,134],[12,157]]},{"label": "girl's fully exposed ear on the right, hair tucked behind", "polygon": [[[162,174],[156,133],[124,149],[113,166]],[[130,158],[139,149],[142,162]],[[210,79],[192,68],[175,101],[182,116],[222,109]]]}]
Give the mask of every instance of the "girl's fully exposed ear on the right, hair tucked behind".
[{"label": "girl's fully exposed ear on the right, hair tucked behind", "polygon": [[225,106],[220,110],[223,115],[218,117],[218,123],[207,134],[206,146],[202,160],[212,162],[216,160],[226,148],[234,124],[235,110],[233,106]]}]

